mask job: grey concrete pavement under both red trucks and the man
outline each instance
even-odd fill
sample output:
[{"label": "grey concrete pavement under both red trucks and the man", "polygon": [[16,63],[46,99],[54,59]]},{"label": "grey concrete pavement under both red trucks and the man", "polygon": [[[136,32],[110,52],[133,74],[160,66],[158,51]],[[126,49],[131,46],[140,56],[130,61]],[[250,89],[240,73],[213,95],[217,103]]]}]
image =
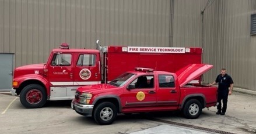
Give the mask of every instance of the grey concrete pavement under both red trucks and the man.
[{"label": "grey concrete pavement under both red trucks and the man", "polygon": [[[237,92],[239,91],[239,92]],[[153,114],[146,114],[144,115],[145,118],[155,118],[166,122],[174,122],[172,124],[164,123],[164,122],[158,122],[158,121],[147,121],[147,125],[145,127],[141,127],[137,125],[128,124],[128,119],[130,117],[120,116],[118,121],[114,122],[113,125],[107,125],[107,126],[99,126],[97,124],[93,124],[93,121],[88,121],[87,119],[81,120],[81,122],[88,122],[91,124],[91,129],[94,130],[92,127],[95,127],[97,129],[100,128],[108,128],[108,129],[114,129],[111,128],[112,126],[116,126],[118,124],[124,125],[124,130],[120,129],[118,133],[131,133],[131,134],[141,134],[141,133],[197,133],[197,134],[204,134],[204,133],[214,133],[214,131],[207,131],[207,129],[212,129],[216,131],[221,131],[223,133],[245,133],[245,134],[255,134],[256,133],[256,94],[253,93],[240,93],[241,90],[234,89],[234,92],[232,95],[229,96],[228,104],[227,104],[227,112],[226,115],[216,115],[216,107],[211,107],[209,110],[207,108],[204,108],[202,111],[202,114],[197,119],[186,119],[180,114],[173,114],[173,113],[153,113]],[[7,95],[8,94],[8,95]],[[32,116],[34,115],[38,119],[42,118],[41,121],[44,121],[44,114],[45,115],[51,115],[49,112],[51,110],[57,111],[61,114],[54,114],[51,115],[52,118],[48,118],[47,121],[45,121],[45,124],[39,123],[37,125],[44,126],[45,129],[52,129],[50,125],[47,125],[47,122],[51,122],[51,124],[55,124],[56,122],[65,120],[64,123],[61,123],[59,127],[62,127],[62,125],[69,126],[69,124],[76,124],[75,126],[72,125],[71,128],[67,128],[65,131],[68,133],[69,129],[71,129],[71,132],[75,132],[78,128],[81,128],[82,125],[79,124],[78,121],[73,121],[74,119],[81,119],[80,115],[74,113],[70,107],[62,107],[59,108],[59,106],[53,106],[53,107],[45,107],[45,108],[37,108],[37,109],[26,109],[22,107],[22,105],[19,102],[19,97],[10,96],[10,93],[0,93],[0,125],[5,125],[5,128],[8,129],[8,131],[5,131],[5,129],[0,129],[1,132],[19,132],[18,130],[28,129],[35,127],[33,125],[25,125],[22,124],[22,122],[19,122],[20,114],[19,113],[27,113],[29,112]],[[48,109],[50,108],[50,109]],[[17,114],[16,118],[13,117],[13,115]],[[9,116],[12,115],[12,116]],[[65,115],[65,116],[64,116]],[[29,120],[32,118],[26,117],[26,115],[23,115],[24,118],[27,118],[26,122],[33,122],[33,120]],[[61,118],[59,118],[61,116]],[[139,115],[140,116],[140,115]],[[138,121],[142,121],[144,119],[139,119],[140,117],[136,117],[136,115],[132,115],[131,118],[138,119]],[[133,122],[132,120],[129,120]],[[12,124],[15,126],[15,124],[19,124],[19,126],[9,127],[6,126],[7,124]],[[36,123],[33,122],[34,125]],[[135,124],[135,123],[133,123]],[[148,125],[150,124],[150,125]],[[182,125],[184,124],[184,125]],[[79,126],[81,125],[81,126]],[[136,127],[133,129],[129,129],[132,125],[132,127]],[[181,125],[181,126],[180,126]],[[147,127],[148,126],[148,127]],[[187,126],[187,127],[185,127]],[[24,128],[25,127],[25,128]],[[50,128],[48,128],[50,127]],[[10,129],[12,128],[12,129]],[[62,127],[62,129],[65,129]],[[117,127],[115,127],[117,128]],[[197,128],[203,128],[202,130],[197,130]],[[204,129],[206,128],[206,129]],[[81,128],[82,129],[82,128]],[[89,129],[85,127],[85,129]],[[37,130],[37,129],[33,129]],[[92,130],[90,132],[92,132]],[[37,131],[24,131],[23,132],[37,132]],[[41,132],[41,131],[39,131]],[[43,132],[43,131],[42,131]],[[111,133],[111,132],[109,132]]]}]

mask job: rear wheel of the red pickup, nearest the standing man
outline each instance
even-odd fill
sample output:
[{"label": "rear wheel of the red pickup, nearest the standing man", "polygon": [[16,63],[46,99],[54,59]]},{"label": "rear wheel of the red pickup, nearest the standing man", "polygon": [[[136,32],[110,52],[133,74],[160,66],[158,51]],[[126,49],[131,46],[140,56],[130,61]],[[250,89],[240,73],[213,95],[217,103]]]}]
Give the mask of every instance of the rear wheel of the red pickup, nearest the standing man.
[{"label": "rear wheel of the red pickup, nearest the standing man", "polygon": [[202,113],[202,104],[197,99],[188,100],[183,107],[185,118],[195,119]]}]

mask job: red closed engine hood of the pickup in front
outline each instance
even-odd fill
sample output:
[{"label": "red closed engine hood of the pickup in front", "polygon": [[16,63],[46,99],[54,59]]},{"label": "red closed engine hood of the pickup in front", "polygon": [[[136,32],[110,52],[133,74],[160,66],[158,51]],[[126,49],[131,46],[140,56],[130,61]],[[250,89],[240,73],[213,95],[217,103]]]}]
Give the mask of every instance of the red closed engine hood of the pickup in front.
[{"label": "red closed engine hood of the pickup in front", "polygon": [[95,84],[95,85],[86,85],[86,86],[81,86],[78,88],[79,92],[90,92],[90,93],[94,93],[94,92],[105,92],[102,91],[104,89],[115,89],[117,88],[117,86],[113,86],[110,84]]}]

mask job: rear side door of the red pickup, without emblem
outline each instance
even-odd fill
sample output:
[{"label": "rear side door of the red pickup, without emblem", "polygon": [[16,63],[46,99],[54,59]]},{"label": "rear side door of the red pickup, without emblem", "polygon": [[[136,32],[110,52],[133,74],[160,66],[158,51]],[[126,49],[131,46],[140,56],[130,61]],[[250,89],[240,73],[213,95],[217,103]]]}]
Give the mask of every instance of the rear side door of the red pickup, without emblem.
[{"label": "rear side door of the red pickup, without emblem", "polygon": [[177,109],[180,90],[176,88],[173,75],[158,75],[157,86],[157,105],[169,110]]}]

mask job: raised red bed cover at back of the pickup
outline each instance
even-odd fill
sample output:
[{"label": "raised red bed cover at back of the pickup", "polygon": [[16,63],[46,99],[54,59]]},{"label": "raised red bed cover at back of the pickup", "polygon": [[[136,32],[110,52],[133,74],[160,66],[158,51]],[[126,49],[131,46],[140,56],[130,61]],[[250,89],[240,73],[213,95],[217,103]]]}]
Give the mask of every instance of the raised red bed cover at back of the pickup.
[{"label": "raised red bed cover at back of the pickup", "polygon": [[188,84],[188,82],[200,77],[206,71],[211,70],[211,68],[213,68],[213,65],[211,64],[189,64],[188,66],[181,68],[176,72],[180,87],[183,87]]}]

